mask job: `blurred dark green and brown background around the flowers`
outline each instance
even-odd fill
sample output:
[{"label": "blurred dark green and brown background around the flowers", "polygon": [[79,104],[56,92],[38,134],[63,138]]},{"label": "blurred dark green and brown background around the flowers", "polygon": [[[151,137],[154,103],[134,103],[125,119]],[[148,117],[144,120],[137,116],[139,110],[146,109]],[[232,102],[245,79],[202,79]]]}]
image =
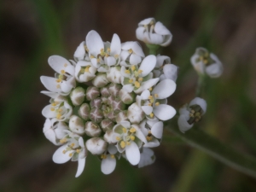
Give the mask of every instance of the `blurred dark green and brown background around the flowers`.
[{"label": "blurred dark green and brown background around the flowers", "polygon": [[[77,162],[56,165],[53,144],[44,137],[41,110],[49,97],[39,76],[53,76],[49,55],[73,59],[91,29],[110,41],[135,41],[137,23],[148,17],[172,32],[162,49],[180,67],[169,103],[180,108],[195,96],[197,76],[189,64],[204,46],[224,63],[224,74],[207,82],[207,115],[201,129],[237,151],[256,156],[256,2],[254,0],[9,0],[0,2],[0,191],[256,191],[256,183],[236,170],[165,137],[154,148],[156,161],[141,169],[119,160],[102,174],[90,155],[83,174]],[[145,49],[146,50],[146,49]],[[145,51],[147,52],[147,51]],[[172,126],[177,126],[172,120]]]}]

